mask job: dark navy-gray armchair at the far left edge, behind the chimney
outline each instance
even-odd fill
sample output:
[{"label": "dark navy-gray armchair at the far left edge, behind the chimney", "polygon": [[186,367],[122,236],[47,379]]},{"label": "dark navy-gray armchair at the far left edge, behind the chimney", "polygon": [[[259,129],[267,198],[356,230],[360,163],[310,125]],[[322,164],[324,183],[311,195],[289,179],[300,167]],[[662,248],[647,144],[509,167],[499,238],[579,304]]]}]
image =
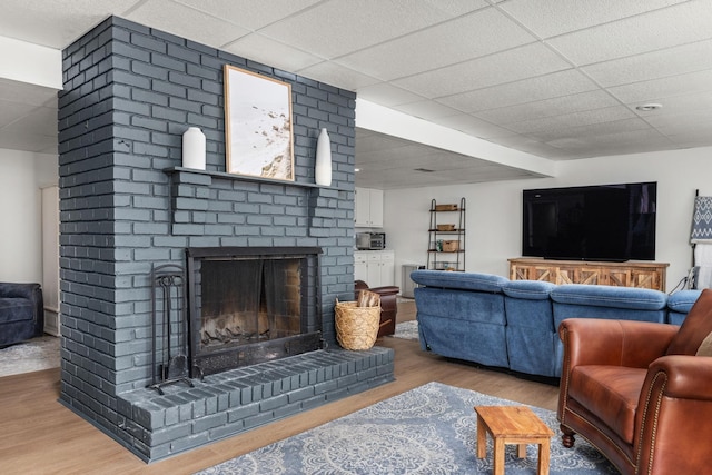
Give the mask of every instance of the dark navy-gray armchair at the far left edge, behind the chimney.
[{"label": "dark navy-gray armchair at the far left edge, behind the chimney", "polygon": [[0,347],[40,336],[43,328],[41,286],[0,283]]}]

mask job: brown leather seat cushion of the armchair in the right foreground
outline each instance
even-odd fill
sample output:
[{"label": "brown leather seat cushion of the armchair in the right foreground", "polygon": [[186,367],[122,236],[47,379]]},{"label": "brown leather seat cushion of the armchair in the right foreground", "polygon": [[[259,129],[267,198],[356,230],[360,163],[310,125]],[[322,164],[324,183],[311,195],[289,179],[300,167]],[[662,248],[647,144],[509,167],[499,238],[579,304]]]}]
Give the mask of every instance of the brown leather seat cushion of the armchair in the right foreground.
[{"label": "brown leather seat cushion of the armchair in the right foreground", "polygon": [[646,374],[646,368],[576,366],[571,372],[568,396],[632,444],[635,409]]}]

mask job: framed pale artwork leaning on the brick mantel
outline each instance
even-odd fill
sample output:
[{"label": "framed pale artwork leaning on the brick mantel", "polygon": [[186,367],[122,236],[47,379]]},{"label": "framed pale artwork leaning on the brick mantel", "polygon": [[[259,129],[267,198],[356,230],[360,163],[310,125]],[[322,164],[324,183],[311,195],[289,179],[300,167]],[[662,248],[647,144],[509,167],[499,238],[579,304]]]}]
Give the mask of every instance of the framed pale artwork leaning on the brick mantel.
[{"label": "framed pale artwork leaning on the brick mantel", "polygon": [[291,85],[225,65],[226,171],[294,181]]}]

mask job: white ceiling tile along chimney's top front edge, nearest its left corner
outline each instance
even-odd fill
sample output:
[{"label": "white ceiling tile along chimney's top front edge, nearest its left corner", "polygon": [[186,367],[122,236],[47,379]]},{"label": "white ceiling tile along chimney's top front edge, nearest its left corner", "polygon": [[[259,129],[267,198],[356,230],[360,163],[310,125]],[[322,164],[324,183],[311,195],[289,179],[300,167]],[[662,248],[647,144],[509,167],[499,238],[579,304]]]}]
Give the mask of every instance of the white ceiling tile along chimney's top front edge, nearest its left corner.
[{"label": "white ceiling tile along chimney's top front edge, nearest its left corner", "polygon": [[[167,10],[170,10],[170,16],[166,14]],[[249,33],[245,28],[170,0],[149,0],[126,18],[212,48],[220,48]]]}]

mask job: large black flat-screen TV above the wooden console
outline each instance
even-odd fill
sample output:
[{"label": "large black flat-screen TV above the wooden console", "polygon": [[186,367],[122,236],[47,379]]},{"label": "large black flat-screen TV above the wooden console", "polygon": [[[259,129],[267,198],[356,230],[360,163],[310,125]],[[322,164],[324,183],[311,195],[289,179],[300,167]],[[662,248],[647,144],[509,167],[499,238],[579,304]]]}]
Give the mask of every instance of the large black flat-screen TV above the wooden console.
[{"label": "large black flat-screen TV above the wooden console", "polygon": [[654,260],[657,184],[523,191],[522,255]]}]

